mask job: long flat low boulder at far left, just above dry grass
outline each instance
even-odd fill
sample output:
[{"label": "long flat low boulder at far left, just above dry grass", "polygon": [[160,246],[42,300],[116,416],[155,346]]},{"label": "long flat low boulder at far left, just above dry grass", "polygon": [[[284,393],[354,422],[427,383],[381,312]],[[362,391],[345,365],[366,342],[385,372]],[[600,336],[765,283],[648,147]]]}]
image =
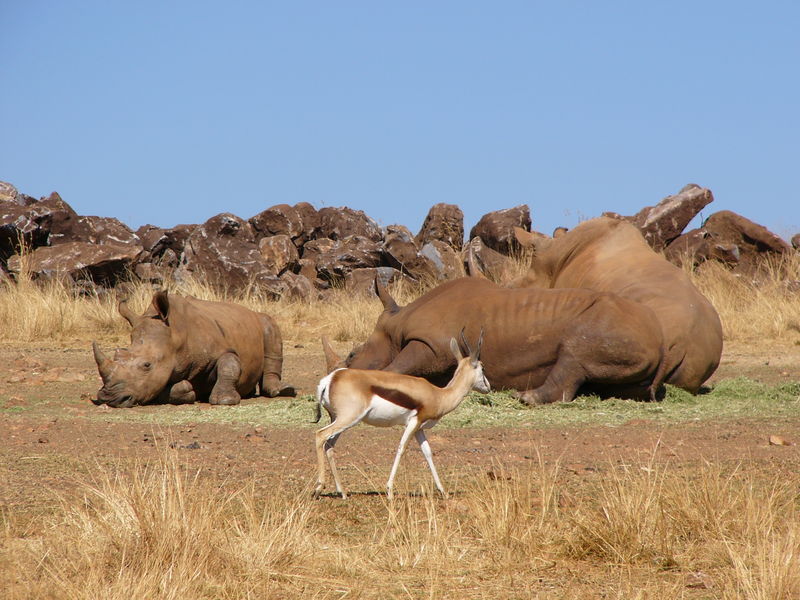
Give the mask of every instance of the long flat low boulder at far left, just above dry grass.
[{"label": "long flat low boulder at far left, just above dry grass", "polygon": [[36,248],[24,258],[12,256],[8,260],[8,268],[16,275],[24,270],[34,278],[88,279],[111,286],[129,278],[141,250],[141,246],[135,245],[66,242]]}]

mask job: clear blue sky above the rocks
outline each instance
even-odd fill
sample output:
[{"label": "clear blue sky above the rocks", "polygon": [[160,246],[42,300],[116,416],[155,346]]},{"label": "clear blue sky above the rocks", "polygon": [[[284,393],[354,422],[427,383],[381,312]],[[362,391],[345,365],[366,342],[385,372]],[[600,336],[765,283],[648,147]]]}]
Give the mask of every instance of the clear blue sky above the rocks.
[{"label": "clear blue sky above the rocks", "polygon": [[137,227],[273,204],[534,228],[698,183],[800,231],[798,2],[0,3],[0,180]]}]

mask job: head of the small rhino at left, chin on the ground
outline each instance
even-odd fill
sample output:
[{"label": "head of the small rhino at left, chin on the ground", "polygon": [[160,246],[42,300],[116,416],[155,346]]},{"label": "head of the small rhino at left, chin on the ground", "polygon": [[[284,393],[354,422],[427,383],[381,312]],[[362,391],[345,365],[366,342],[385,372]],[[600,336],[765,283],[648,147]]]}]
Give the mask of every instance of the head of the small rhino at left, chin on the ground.
[{"label": "head of the small rhino at left, chin on the ground", "polygon": [[172,376],[176,351],[169,322],[169,298],[166,292],[153,296],[151,307],[135,315],[125,301],[119,313],[131,324],[130,348],[119,349],[108,358],[92,342],[94,359],[103,387],[97,391],[95,404],[127,408],[151,402],[167,387]]}]

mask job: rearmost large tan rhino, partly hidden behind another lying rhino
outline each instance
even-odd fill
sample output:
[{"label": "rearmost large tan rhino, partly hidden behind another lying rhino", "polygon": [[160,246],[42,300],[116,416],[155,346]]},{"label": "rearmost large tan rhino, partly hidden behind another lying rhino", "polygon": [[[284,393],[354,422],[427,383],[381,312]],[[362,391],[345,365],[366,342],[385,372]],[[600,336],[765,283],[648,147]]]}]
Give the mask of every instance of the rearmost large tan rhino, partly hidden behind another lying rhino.
[{"label": "rearmost large tan rhino, partly hidden behind another lying rhino", "polygon": [[517,228],[535,256],[523,286],[612,292],[648,306],[661,325],[666,383],[696,393],[719,365],[722,325],[711,303],[678,267],[653,252],[639,230],[600,217],[552,240]]}]

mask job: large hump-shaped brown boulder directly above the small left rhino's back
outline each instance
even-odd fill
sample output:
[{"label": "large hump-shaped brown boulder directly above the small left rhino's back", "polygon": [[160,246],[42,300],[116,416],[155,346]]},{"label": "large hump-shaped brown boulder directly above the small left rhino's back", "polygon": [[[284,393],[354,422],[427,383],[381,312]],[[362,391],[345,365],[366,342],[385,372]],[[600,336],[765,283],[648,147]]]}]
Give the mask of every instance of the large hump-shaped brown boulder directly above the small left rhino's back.
[{"label": "large hump-shaped brown boulder directly above the small left rhino's back", "polygon": [[278,286],[258,250],[253,227],[231,213],[222,213],[195,227],[184,244],[181,280],[201,277],[214,287],[242,290],[255,286],[272,295]]}]

